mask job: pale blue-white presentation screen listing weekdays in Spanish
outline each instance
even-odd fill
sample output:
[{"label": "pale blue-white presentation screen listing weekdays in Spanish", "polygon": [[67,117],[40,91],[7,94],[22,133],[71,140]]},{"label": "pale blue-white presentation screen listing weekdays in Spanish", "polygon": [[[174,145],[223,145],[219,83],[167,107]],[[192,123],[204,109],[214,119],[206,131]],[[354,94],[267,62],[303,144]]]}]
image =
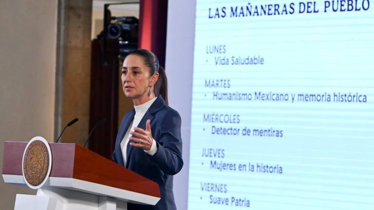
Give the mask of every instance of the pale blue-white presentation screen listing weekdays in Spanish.
[{"label": "pale blue-white presentation screen listing weekdays in Spanish", "polygon": [[374,209],[374,1],[197,0],[189,210]]}]

